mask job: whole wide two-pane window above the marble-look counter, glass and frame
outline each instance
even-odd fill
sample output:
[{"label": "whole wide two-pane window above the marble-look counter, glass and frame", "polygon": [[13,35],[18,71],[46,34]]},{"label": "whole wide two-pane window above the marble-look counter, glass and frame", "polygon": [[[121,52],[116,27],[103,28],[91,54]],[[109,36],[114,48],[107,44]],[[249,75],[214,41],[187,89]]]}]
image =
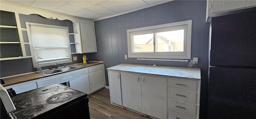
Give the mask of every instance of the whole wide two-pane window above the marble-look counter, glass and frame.
[{"label": "whole wide two-pane window above the marble-look counter, glass and frame", "polygon": [[128,57],[190,59],[192,20],[127,30]]}]

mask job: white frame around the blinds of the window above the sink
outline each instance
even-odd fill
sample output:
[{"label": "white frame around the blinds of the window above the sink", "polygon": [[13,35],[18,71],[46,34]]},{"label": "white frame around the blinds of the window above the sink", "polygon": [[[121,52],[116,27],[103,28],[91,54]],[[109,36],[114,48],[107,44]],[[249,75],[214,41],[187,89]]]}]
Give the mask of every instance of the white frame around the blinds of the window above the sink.
[{"label": "white frame around the blinds of the window above the sink", "polygon": [[51,66],[54,64],[62,64],[62,63],[70,63],[72,62],[72,54],[71,54],[71,46],[70,46],[70,39],[69,39],[69,35],[68,35],[68,51],[70,53],[70,57],[67,59],[56,59],[56,60],[49,60],[49,61],[42,61],[42,62],[37,62],[37,58],[36,58],[36,51],[35,51],[35,46],[34,46],[34,41],[32,38],[32,33],[31,33],[31,25],[39,25],[42,27],[54,27],[54,28],[62,28],[62,29],[66,29],[66,34],[68,34],[68,27],[64,27],[64,26],[57,26],[57,25],[46,25],[46,24],[41,24],[41,23],[30,23],[30,22],[26,22],[26,28],[27,28],[27,34],[28,34],[28,40],[30,43],[30,52],[31,52],[31,56],[32,56],[32,62],[33,62],[33,67],[36,68],[38,67],[38,63],[40,66]]}]

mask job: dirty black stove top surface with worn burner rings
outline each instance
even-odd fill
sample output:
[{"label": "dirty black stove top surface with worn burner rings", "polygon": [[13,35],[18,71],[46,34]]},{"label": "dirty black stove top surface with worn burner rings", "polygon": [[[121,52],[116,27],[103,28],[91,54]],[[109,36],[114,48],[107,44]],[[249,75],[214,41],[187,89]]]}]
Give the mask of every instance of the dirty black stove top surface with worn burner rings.
[{"label": "dirty black stove top surface with worn burner rings", "polygon": [[77,101],[78,98],[86,97],[86,93],[64,85],[53,84],[12,97],[16,107],[16,110],[12,113],[17,119],[32,119],[65,103],[72,103],[72,101]]}]

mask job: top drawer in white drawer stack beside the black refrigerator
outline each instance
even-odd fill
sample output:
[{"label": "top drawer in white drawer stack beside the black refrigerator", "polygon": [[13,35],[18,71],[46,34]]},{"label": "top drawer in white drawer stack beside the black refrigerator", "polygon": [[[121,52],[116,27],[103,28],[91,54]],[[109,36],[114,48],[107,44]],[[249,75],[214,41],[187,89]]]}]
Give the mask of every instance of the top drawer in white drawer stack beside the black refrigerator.
[{"label": "top drawer in white drawer stack beside the black refrigerator", "polygon": [[197,84],[196,81],[190,81],[188,78],[168,78],[168,86],[170,87],[197,91]]}]

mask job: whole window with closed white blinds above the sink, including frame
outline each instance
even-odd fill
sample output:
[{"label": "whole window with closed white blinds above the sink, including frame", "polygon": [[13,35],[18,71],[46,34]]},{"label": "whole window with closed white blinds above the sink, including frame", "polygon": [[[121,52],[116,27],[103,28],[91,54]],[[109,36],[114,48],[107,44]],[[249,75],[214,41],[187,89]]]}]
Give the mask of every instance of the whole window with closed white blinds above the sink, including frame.
[{"label": "whole window with closed white blinds above the sink, including frame", "polygon": [[72,62],[68,27],[26,23],[34,68]]}]

